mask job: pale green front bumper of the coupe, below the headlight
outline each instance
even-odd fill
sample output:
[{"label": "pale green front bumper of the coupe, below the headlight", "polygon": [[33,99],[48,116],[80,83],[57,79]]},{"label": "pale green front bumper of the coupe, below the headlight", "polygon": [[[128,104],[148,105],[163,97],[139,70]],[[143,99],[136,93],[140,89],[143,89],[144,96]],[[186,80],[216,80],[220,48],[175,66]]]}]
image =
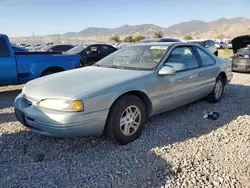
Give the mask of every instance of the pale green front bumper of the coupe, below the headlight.
[{"label": "pale green front bumper of the coupe, below the headlight", "polygon": [[47,136],[87,136],[102,133],[109,110],[85,114],[60,112],[38,107],[26,102],[23,94],[15,100],[15,114],[24,126]]}]

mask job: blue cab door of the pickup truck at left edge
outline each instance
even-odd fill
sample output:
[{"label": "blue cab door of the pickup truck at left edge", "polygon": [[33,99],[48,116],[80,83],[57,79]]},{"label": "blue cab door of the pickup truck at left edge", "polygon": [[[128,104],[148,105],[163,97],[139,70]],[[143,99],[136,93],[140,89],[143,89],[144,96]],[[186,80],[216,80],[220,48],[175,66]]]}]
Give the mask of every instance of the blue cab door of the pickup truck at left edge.
[{"label": "blue cab door of the pickup truck at left edge", "polygon": [[0,85],[17,84],[17,67],[5,38],[0,38]]}]

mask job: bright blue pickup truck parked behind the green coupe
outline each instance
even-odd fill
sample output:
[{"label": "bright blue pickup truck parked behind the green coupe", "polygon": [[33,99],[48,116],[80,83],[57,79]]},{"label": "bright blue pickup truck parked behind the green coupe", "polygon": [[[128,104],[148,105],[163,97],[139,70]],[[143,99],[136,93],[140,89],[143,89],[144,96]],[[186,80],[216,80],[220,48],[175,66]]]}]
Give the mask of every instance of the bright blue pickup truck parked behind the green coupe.
[{"label": "bright blue pickup truck parked behind the green coupe", "polygon": [[80,67],[79,55],[53,53],[15,51],[8,37],[0,34],[0,85],[22,84],[35,78]]}]

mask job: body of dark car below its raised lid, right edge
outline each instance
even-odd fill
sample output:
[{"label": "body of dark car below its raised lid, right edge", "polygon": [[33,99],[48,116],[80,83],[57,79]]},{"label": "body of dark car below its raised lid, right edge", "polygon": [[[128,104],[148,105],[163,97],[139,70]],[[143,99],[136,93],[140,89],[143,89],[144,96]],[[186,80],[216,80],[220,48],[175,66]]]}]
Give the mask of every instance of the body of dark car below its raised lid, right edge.
[{"label": "body of dark car below its raised lid, right edge", "polygon": [[250,45],[239,49],[231,60],[233,71],[250,72]]}]

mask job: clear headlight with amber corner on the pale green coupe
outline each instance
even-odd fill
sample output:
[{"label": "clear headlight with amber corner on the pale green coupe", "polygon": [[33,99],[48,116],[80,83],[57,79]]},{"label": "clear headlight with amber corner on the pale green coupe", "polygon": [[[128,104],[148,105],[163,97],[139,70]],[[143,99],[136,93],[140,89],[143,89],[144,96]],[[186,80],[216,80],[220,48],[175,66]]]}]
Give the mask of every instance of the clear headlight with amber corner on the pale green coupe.
[{"label": "clear headlight with amber corner on the pale green coupe", "polygon": [[84,110],[83,102],[80,100],[45,99],[39,103],[39,106],[42,108],[66,112],[80,112]]}]

